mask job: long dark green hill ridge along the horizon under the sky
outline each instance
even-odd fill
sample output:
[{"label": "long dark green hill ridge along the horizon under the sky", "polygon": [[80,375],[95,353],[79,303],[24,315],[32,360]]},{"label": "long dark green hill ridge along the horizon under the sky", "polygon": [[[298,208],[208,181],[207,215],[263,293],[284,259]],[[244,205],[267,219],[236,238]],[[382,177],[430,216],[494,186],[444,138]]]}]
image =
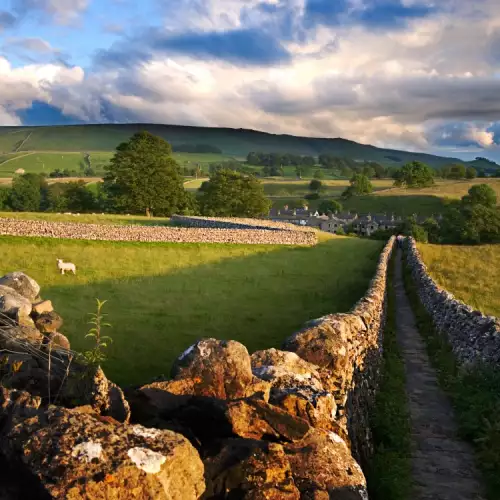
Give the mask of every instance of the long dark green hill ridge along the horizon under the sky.
[{"label": "long dark green hill ridge along the horizon under the sky", "polygon": [[[173,145],[209,144],[219,148],[226,155],[237,157],[246,157],[251,151],[312,156],[329,153],[354,160],[376,161],[386,166],[399,166],[413,160],[425,162],[435,168],[454,162],[467,164],[457,158],[382,149],[346,139],[295,137],[246,129],[152,124],[0,127],[0,153],[112,151],[120,142],[139,130],[148,130]],[[479,163],[485,165],[486,162]]]}]

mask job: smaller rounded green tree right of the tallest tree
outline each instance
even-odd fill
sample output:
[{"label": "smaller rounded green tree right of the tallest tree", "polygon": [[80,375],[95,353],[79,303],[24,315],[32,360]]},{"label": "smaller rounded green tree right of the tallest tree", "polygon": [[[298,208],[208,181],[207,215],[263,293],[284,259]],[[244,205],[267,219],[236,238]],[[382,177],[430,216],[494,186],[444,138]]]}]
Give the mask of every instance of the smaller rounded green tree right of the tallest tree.
[{"label": "smaller rounded green tree right of the tallest tree", "polygon": [[200,191],[201,209],[208,216],[259,217],[268,215],[271,208],[255,177],[232,170],[218,170]]}]

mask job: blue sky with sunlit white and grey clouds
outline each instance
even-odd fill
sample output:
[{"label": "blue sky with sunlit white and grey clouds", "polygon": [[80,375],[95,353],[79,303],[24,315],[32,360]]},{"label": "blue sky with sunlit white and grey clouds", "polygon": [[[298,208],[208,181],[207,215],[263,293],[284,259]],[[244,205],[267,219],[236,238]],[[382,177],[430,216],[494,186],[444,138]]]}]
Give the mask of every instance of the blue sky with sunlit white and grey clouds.
[{"label": "blue sky with sunlit white and grey clouds", "polygon": [[500,0],[0,0],[0,125],[137,122],[500,160]]}]

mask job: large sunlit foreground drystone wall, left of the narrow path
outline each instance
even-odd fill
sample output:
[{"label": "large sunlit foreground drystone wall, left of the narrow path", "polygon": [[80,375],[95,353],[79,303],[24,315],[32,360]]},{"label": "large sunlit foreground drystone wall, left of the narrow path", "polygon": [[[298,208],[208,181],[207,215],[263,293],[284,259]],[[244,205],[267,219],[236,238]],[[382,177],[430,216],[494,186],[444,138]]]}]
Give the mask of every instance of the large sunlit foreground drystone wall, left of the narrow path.
[{"label": "large sunlit foreground drystone wall, left of the narrow path", "polygon": [[367,500],[360,464],[373,451],[368,415],[394,241],[349,313],[308,322],[283,350],[250,355],[239,342],[201,339],[171,379],[125,393],[99,367],[80,365],[36,282],[0,278],[0,306],[13,318],[0,323],[0,349],[18,353],[2,365],[0,493]]}]

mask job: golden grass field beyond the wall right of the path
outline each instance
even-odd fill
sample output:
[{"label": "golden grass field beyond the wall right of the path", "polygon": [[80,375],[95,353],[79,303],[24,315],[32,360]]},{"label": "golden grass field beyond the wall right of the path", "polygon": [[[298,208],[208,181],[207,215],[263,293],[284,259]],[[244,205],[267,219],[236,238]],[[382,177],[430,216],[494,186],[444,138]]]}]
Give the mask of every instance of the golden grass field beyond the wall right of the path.
[{"label": "golden grass field beyond the wall right of the path", "polygon": [[500,317],[500,245],[419,244],[432,277],[458,299]]}]

